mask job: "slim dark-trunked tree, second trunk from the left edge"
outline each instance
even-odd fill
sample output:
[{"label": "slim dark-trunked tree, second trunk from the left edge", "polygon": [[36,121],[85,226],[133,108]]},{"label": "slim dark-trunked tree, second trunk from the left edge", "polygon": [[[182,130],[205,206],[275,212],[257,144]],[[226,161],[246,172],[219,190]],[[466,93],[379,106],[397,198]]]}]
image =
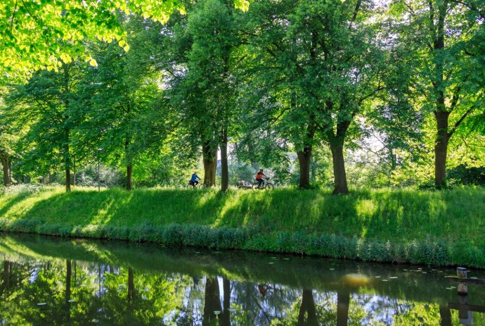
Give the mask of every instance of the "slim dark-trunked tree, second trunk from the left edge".
[{"label": "slim dark-trunked tree, second trunk from the left edge", "polygon": [[72,63],[63,65],[59,73],[39,72],[6,98],[13,108],[11,118],[29,125],[19,143],[23,165],[40,173],[63,166],[66,192],[71,190],[72,131],[80,74],[79,66]]}]

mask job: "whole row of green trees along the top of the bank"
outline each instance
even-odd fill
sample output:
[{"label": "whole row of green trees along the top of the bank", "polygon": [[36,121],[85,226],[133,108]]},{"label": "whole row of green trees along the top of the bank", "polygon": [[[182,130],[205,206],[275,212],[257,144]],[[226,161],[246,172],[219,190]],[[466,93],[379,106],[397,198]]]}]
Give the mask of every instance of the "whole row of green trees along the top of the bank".
[{"label": "whole row of green trees along the top of the bank", "polygon": [[184,8],[165,25],[119,13],[128,43],[89,42],[96,61],[46,67],[4,87],[4,182],[15,158],[23,173],[63,166],[70,191],[72,170],[94,159],[123,165],[131,189],[134,165],[184,169],[201,155],[204,182],[214,185],[219,152],[224,191],[229,156],[270,166],[293,152],[306,188],[315,151],[327,147],[334,192],[346,194],[347,147],[369,134],[391,171],[427,164],[420,158],[432,147],[437,187],[446,185],[455,134],[458,143],[477,139],[465,142],[466,156],[483,164],[483,0]]}]

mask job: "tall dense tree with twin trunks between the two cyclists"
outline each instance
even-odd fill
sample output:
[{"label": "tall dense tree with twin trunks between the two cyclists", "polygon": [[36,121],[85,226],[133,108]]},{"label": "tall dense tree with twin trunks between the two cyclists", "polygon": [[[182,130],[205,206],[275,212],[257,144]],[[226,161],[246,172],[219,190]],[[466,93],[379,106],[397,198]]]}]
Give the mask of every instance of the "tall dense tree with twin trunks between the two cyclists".
[{"label": "tall dense tree with twin trunks between the two cyclists", "polygon": [[[215,184],[217,149],[221,149],[221,190],[228,189],[228,138],[236,99],[235,69],[244,57],[239,48],[238,15],[226,1],[204,1],[188,11],[186,73],[177,84],[190,133],[202,144],[204,183]],[[195,137],[195,139],[197,139]]]}]

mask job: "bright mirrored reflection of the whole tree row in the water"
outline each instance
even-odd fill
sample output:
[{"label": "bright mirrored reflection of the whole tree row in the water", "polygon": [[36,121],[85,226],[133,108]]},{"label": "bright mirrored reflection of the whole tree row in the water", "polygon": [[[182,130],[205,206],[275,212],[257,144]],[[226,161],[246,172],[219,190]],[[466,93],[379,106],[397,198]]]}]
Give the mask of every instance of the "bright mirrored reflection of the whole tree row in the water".
[{"label": "bright mirrored reflection of the whole tree row in the water", "polygon": [[[0,268],[0,320],[6,325],[458,325],[458,313],[438,304],[345,289],[142,273],[70,259],[5,260]],[[484,318],[474,315],[477,325]]]}]

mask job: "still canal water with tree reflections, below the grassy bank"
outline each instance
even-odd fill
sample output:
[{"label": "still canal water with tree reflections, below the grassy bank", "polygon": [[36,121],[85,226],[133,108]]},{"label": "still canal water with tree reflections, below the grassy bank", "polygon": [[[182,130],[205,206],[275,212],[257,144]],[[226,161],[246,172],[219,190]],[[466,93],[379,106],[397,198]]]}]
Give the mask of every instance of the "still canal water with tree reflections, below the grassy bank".
[{"label": "still canal water with tree reflections, below the grassy bank", "polygon": [[0,259],[0,325],[485,325],[454,269],[8,235]]}]

